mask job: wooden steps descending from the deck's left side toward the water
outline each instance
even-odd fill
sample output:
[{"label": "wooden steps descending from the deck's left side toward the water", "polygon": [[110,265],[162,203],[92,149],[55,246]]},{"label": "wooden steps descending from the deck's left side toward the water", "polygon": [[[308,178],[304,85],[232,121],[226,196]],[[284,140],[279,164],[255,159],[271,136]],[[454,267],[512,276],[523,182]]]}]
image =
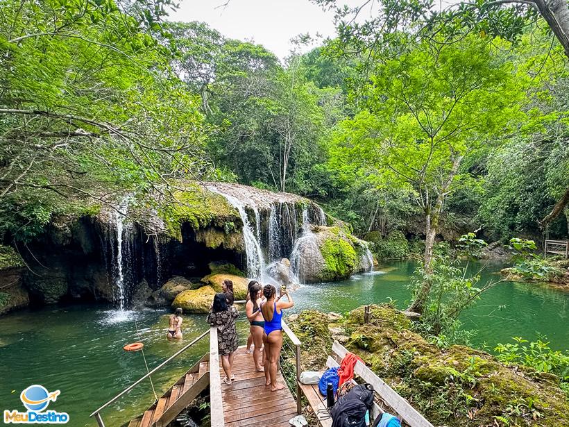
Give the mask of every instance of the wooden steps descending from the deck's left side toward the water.
[{"label": "wooden steps descending from the deck's left side toward the water", "polygon": [[[205,358],[205,356],[204,356]],[[204,359],[202,358],[202,359]],[[165,427],[192,403],[209,381],[210,362],[201,360],[128,427]]]}]

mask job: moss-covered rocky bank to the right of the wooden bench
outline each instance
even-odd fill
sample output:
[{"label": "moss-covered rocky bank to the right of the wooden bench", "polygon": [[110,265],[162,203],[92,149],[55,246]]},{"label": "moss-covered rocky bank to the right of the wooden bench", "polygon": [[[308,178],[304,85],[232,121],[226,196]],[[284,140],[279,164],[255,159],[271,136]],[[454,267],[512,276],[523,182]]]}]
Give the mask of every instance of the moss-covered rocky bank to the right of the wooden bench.
[{"label": "moss-covered rocky bank to the right of the wooden bench", "polygon": [[305,311],[289,324],[303,342],[303,369],[324,367],[339,340],[435,426],[569,426],[557,377],[504,366],[466,346],[440,349],[387,305],[371,306],[370,324],[363,307],[343,317]]}]

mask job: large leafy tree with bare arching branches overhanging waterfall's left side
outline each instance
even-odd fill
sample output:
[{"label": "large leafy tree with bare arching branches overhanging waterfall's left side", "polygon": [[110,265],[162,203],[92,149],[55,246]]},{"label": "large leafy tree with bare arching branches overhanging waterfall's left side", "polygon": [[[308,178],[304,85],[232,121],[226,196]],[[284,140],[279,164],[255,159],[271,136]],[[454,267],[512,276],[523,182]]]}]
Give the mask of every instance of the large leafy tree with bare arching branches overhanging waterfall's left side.
[{"label": "large leafy tree with bare arching branches overhanging waterfall's left side", "polygon": [[111,0],[1,1],[0,203],[13,225],[1,234],[25,234],[29,218],[12,221],[22,203],[45,223],[74,200],[164,201],[173,180],[210,169],[197,99],[152,35],[160,4],[143,18]]}]

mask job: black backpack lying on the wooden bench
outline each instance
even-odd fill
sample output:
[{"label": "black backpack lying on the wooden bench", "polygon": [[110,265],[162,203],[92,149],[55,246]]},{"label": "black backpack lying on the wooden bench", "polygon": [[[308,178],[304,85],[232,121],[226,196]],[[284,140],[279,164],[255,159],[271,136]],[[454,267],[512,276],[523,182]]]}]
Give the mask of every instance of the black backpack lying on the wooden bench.
[{"label": "black backpack lying on the wooden bench", "polygon": [[358,384],[341,396],[330,411],[332,427],[365,427],[366,412],[373,407],[373,386]]}]

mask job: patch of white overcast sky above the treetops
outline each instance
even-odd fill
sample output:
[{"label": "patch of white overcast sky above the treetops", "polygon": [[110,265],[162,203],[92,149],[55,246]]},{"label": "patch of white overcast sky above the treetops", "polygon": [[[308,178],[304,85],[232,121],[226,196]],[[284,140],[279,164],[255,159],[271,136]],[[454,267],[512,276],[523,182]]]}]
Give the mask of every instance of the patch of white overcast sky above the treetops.
[{"label": "patch of white overcast sky above the treetops", "polygon": [[[343,3],[355,5],[360,1]],[[309,0],[231,0],[226,8],[216,8],[225,2],[182,0],[180,9],[169,19],[207,22],[226,37],[262,44],[281,59],[288,55],[289,41],[296,35],[335,35],[333,12],[324,12]]]}]

